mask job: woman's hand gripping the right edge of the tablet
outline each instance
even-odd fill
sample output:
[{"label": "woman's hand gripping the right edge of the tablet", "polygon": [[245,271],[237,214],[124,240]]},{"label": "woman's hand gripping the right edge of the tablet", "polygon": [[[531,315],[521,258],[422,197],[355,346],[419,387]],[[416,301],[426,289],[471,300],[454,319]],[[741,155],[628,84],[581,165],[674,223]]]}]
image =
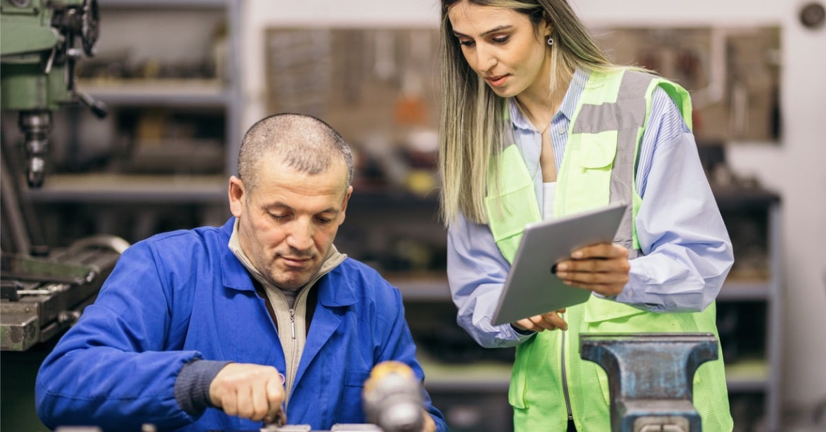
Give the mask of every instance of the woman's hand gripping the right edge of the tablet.
[{"label": "woman's hand gripping the right edge of the tablet", "polygon": [[577,249],[556,268],[557,276],[567,285],[610,297],[622,292],[628,283],[631,265],[628,249],[601,243]]}]

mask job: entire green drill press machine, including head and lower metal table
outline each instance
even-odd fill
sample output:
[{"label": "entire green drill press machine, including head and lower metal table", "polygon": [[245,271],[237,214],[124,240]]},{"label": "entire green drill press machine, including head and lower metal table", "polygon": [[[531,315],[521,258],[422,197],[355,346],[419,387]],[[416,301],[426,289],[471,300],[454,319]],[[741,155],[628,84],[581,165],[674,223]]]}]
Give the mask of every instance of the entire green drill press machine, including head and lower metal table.
[{"label": "entire green drill press machine, including head and lower metal table", "polygon": [[[95,0],[0,0],[0,99],[19,111],[24,132],[26,183],[45,175],[51,112],[83,102],[106,114],[74,85],[74,64],[93,55],[97,42]],[[93,302],[129,244],[112,236],[84,238],[56,252],[39,240],[33,210],[21,199],[17,158],[2,157],[2,299],[0,348],[26,351],[74,324]]]}]

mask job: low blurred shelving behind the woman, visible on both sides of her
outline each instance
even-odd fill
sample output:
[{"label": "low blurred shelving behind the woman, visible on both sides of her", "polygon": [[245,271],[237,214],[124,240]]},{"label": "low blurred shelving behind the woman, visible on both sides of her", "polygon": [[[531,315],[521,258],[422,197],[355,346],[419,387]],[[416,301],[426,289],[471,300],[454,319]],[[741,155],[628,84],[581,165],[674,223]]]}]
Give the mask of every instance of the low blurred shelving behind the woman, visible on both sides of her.
[{"label": "low blurred shelving behind the woman, visible on both sides of her", "polygon": [[[781,430],[780,199],[756,187],[715,187],[714,194],[735,253],[735,265],[716,302],[735,430],[776,432]],[[479,348],[455,324],[456,310],[444,278],[445,233],[435,217],[438,204],[435,199],[404,196],[365,197],[356,192],[342,227],[344,238],[367,238],[366,229],[359,228],[363,225],[382,242],[339,248],[368,262],[381,257],[373,265],[401,289],[425,369],[425,387],[451,430],[512,430],[507,389],[514,352]],[[377,223],[378,218],[394,223]],[[410,268],[397,249],[368,246],[400,242],[426,247],[441,262]],[[387,262],[396,266],[388,268]]]}]

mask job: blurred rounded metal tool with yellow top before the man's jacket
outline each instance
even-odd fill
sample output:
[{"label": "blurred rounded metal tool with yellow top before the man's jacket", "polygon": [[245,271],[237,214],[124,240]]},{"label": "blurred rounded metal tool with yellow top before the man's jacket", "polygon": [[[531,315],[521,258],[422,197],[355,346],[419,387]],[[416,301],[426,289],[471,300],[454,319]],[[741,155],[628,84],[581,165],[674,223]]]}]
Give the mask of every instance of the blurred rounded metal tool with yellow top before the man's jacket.
[{"label": "blurred rounded metal tool with yellow top before the man's jacket", "polygon": [[422,390],[402,362],[381,362],[364,383],[364,413],[384,432],[419,432],[424,424]]}]

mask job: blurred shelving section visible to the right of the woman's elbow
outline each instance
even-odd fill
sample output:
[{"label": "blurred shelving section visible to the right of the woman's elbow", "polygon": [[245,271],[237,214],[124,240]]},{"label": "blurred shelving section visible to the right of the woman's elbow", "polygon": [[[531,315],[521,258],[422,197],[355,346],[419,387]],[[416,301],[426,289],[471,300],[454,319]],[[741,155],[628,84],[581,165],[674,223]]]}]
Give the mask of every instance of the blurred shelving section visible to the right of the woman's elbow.
[{"label": "blurred shelving section visible to the right of the woman's elbow", "polygon": [[734,247],[717,300],[735,430],[781,429],[781,200],[757,187],[716,187]]}]

